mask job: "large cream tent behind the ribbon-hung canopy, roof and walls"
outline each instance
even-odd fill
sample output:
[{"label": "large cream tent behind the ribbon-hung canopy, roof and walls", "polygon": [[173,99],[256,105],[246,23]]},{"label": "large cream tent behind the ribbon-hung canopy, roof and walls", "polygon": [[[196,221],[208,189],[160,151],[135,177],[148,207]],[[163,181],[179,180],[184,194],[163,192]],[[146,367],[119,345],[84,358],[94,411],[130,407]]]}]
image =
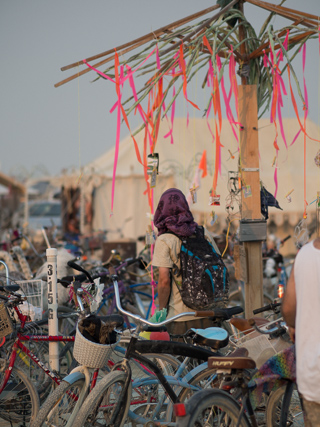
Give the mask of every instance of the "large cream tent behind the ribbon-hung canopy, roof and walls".
[{"label": "large cream tent behind the ribbon-hung canopy, roof and walls", "polygon": [[[214,129],[212,120],[210,120],[210,126]],[[277,124],[280,148],[277,165],[277,200],[283,211],[269,208],[269,215],[278,225],[281,225],[284,220],[289,221],[291,225],[296,225],[302,218],[304,209],[304,134],[300,132],[295,143],[290,145],[299,131],[299,123],[294,118],[284,119],[283,127],[288,148],[285,147],[279,124]],[[200,212],[205,213],[205,220],[209,220],[213,208],[213,206],[209,206],[208,202],[213,181],[215,143],[213,143],[207,120],[194,118],[190,119],[187,125],[185,118],[176,118],[173,126],[173,144],[170,143],[170,137],[164,138],[169,130],[170,125],[167,120],[163,120],[155,149],[155,152],[159,153],[160,174],[154,192],[154,206],[156,207],[162,192],[171,186],[180,188],[187,195],[201,154],[203,150],[206,150],[208,175],[201,179],[201,188],[197,191],[198,202],[192,205],[191,209],[198,220],[197,214]],[[274,194],[276,185],[273,160],[276,150],[273,141],[276,128],[270,124],[268,119],[261,119],[257,132],[259,132],[260,147],[260,179],[264,187]],[[307,134],[311,138],[320,139],[320,129],[311,121],[307,121]],[[140,132],[135,138],[142,152],[144,132]],[[239,164],[238,142],[226,119],[222,124],[221,143],[224,147],[221,149],[221,175],[218,177],[217,185],[221,205],[214,206],[215,213],[220,220],[226,217],[225,208],[230,202],[229,172],[237,172]],[[309,138],[306,139],[306,146],[306,199],[308,203],[311,203],[316,199],[317,191],[320,191],[320,169],[314,162],[314,157],[320,147],[318,142]],[[120,229],[125,237],[136,238],[145,233],[149,223],[147,196],[143,194],[146,189],[143,167],[137,161],[132,138],[128,135],[120,143],[114,212],[110,218],[114,152],[114,148],[107,151],[86,167],[87,173],[91,171],[91,173],[102,174],[106,177],[95,190],[93,225],[95,229],[107,229],[114,232],[109,236],[112,239],[119,237]],[[285,196],[291,190],[294,191],[291,193],[292,202],[289,203]],[[308,208],[309,217],[315,216],[315,205],[314,203]],[[236,210],[238,210],[237,206],[234,211]]]}]

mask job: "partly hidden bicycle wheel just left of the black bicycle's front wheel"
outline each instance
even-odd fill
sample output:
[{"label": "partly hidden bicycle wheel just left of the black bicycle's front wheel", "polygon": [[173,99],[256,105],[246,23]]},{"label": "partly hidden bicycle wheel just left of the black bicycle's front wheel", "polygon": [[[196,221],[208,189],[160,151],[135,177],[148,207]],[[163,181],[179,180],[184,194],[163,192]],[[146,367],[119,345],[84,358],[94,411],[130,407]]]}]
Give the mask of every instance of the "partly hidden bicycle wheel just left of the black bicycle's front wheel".
[{"label": "partly hidden bicycle wheel just left of the black bicycle's front wheel", "polygon": [[80,393],[85,393],[84,386],[84,377],[72,384],[62,381],[41,407],[32,427],[65,426],[69,421],[71,422],[73,411],[79,409],[84,401],[85,394],[79,399]]}]

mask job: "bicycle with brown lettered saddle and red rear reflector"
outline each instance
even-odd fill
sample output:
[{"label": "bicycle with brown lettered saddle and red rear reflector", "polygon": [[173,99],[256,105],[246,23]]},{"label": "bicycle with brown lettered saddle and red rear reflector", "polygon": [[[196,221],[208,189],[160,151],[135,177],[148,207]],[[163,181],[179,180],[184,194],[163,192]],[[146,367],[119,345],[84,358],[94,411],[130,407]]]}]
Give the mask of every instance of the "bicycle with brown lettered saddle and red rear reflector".
[{"label": "bicycle with brown lettered saddle and red rear reflector", "polygon": [[[278,324],[268,331],[257,327],[254,321],[251,321],[251,325],[263,334],[279,333],[282,328],[285,329],[283,324],[280,326]],[[199,391],[186,404],[176,405],[177,426],[257,427],[259,414],[254,412],[251,403],[254,390],[252,378],[257,375],[254,371],[255,361],[244,352],[241,357],[226,357],[223,361],[216,357],[209,358],[208,366],[219,370],[222,390]],[[254,377],[252,372],[255,372]],[[267,401],[266,422],[270,427],[287,426],[288,422],[293,420],[289,416],[289,409],[294,382],[288,378],[284,378],[283,381],[287,382],[285,391],[282,389],[281,392],[277,390],[274,394],[271,393]],[[279,411],[279,402],[282,404],[280,417],[279,412],[276,412]]]}]

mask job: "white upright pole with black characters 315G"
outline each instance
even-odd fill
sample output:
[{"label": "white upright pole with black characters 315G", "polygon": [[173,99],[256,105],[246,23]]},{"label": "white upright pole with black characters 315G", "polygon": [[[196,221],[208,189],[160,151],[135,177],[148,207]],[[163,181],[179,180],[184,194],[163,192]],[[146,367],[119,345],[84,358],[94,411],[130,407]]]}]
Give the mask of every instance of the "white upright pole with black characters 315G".
[{"label": "white upright pole with black characters 315G", "polygon": [[[57,336],[58,332],[58,287],[57,287],[57,249],[49,248],[47,255],[48,278],[48,310],[49,310],[49,335]],[[49,342],[50,368],[59,372],[59,343]]]}]

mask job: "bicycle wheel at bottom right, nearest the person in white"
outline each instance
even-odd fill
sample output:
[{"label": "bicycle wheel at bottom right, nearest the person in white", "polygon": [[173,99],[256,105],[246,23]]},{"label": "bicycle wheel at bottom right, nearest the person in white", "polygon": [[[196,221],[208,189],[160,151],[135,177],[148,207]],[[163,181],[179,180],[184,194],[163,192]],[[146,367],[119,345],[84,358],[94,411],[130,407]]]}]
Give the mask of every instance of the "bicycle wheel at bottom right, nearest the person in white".
[{"label": "bicycle wheel at bottom right, nearest the person in white", "polygon": [[[280,416],[286,386],[272,392],[267,402],[266,424],[267,427],[280,426]],[[294,387],[288,408],[286,425],[293,427],[304,426],[303,411],[297,388]]]}]

